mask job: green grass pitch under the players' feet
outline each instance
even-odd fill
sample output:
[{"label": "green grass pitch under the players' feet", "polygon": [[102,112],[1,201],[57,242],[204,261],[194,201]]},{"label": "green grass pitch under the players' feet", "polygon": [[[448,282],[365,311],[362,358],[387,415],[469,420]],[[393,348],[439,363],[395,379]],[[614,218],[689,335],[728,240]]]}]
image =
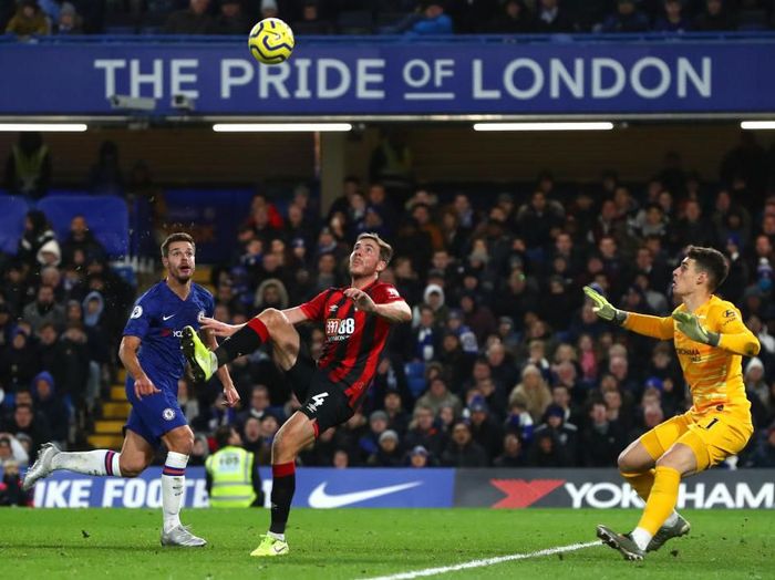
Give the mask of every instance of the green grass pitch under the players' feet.
[{"label": "green grass pitch under the players' feet", "polygon": [[[162,548],[161,512],[149,509],[0,510],[0,569],[6,578],[373,578],[446,569],[523,555],[430,578],[775,578],[768,510],[685,510],[692,531],[624,561],[602,545],[536,555],[596,540],[604,522],[627,531],[637,510],[294,509],[290,553],[249,557],[269,514],[189,509],[183,520],[206,548]],[[626,576],[627,574],[627,576]]]}]

